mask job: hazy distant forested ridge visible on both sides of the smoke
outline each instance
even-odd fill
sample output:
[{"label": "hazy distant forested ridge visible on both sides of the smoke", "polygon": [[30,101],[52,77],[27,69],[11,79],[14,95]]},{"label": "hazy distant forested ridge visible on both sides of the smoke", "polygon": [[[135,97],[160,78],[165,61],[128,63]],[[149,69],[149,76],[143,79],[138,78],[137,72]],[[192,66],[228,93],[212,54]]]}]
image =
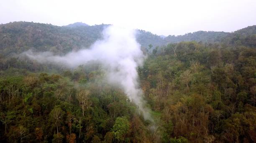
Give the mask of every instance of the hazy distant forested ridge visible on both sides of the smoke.
[{"label": "hazy distant forested ridge visible on both sides of the smoke", "polygon": [[[89,26],[81,22],[62,27],[33,22],[2,24],[0,25],[0,53],[8,56],[33,49],[65,54],[72,50],[90,47],[97,39],[102,38],[101,32],[107,26],[104,24]],[[164,38],[151,32],[138,30],[136,39],[141,47],[148,48],[148,45],[152,44],[153,49],[156,46],[182,41],[223,42],[256,47],[256,26],[232,33],[198,31],[179,36],[169,35]]]}]

